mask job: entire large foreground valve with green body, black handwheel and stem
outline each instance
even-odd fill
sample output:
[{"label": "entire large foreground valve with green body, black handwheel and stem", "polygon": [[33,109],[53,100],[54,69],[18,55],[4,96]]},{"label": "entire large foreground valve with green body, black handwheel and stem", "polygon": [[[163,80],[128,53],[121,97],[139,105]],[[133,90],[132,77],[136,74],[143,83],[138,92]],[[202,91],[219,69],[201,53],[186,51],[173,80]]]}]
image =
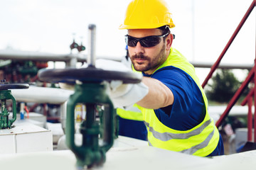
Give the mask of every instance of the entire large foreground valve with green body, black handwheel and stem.
[{"label": "entire large foreground valve with green body, black handwheel and stem", "polygon": [[[90,58],[88,67],[81,69],[44,69],[38,72],[42,81],[64,82],[75,84],[75,93],[70,96],[67,104],[66,144],[77,158],[77,166],[91,167],[105,162],[105,153],[114,142],[114,119],[116,113],[109,96],[107,84],[112,80],[121,80],[124,84],[137,84],[141,81],[138,74],[132,72],[116,72],[95,67],[95,25],[90,25]],[[85,104],[85,120],[80,124],[82,145],[75,144],[75,106]],[[103,110],[96,120],[96,108]],[[100,124],[102,123],[102,125]]]}]

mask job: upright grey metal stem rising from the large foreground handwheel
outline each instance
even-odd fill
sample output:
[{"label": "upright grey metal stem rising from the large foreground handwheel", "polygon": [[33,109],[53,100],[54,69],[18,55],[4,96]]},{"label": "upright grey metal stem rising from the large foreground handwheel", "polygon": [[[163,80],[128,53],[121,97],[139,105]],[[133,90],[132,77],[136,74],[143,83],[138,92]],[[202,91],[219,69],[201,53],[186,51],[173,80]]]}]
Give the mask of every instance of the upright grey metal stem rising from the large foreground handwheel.
[{"label": "upright grey metal stem rising from the large foreground handwheel", "polygon": [[96,26],[94,24],[90,24],[89,28],[89,48],[87,55],[87,63],[88,66],[95,67],[95,34],[96,34]]}]

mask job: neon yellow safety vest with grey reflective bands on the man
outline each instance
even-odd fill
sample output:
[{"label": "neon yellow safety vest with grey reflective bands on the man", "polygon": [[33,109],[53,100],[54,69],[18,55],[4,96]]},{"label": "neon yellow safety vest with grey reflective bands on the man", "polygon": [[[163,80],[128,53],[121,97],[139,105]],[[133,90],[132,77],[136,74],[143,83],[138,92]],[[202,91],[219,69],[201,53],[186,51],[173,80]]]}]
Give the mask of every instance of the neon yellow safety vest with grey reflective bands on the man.
[{"label": "neon yellow safety vest with grey reflective bands on the man", "polygon": [[[189,74],[201,90],[206,106],[206,116],[196,127],[191,130],[174,130],[159,121],[153,109],[138,107],[143,114],[144,123],[148,130],[149,145],[171,151],[193,154],[206,157],[218,145],[219,132],[213,119],[208,114],[208,101],[195,69],[180,52],[171,47],[168,59],[158,69],[173,66]],[[156,69],[157,70],[157,69]],[[155,71],[156,72],[156,71]]]}]

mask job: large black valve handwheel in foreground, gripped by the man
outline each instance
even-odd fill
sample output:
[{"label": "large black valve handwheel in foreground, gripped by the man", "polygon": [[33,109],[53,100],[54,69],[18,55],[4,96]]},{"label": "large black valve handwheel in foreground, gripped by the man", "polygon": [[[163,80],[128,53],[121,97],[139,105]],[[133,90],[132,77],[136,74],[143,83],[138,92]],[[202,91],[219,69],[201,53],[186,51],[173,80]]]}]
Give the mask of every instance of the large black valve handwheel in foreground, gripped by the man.
[{"label": "large black valve handwheel in foreground, gripped by the man", "polygon": [[133,72],[118,72],[95,67],[81,69],[41,69],[38,78],[47,82],[75,83],[76,80],[82,82],[112,81],[121,80],[124,84],[137,84],[142,81],[139,74]]}]

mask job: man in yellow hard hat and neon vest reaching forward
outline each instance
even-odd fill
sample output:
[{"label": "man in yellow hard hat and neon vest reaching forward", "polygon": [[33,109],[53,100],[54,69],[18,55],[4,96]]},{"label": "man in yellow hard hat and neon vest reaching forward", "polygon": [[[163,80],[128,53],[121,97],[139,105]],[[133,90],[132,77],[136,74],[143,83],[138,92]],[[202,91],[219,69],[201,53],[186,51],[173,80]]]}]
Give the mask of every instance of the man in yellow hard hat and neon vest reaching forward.
[{"label": "man in yellow hard hat and neon vest reaching forward", "polygon": [[134,0],[120,29],[134,69],[148,93],[137,101],[149,145],[209,157],[223,154],[223,142],[208,114],[208,101],[193,66],[171,47],[175,25],[162,0]]}]

